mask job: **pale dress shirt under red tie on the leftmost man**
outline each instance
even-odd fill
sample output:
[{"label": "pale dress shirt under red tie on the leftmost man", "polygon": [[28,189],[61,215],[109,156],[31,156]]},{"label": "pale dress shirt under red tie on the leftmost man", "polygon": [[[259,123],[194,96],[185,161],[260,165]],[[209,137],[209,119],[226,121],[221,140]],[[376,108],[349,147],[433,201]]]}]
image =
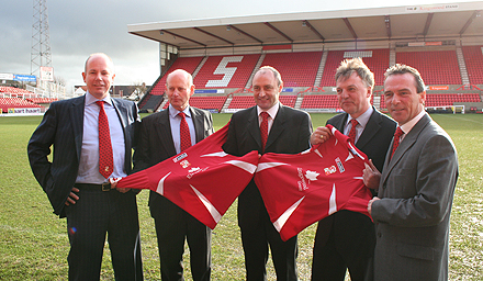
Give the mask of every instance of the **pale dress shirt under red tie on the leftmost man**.
[{"label": "pale dress shirt under red tie on the leftmost man", "polygon": [[[100,184],[108,180],[99,172],[99,112],[100,106],[89,92],[86,93],[83,109],[83,132],[82,147],[80,150],[79,170],[77,183]],[[114,160],[114,171],[109,178],[126,177],[124,170],[125,143],[124,131],[115,108],[112,105],[111,97],[108,95],[104,103],[104,111],[108,115],[109,131],[111,135],[112,154]],[[75,160],[75,159],[72,159]]]}]

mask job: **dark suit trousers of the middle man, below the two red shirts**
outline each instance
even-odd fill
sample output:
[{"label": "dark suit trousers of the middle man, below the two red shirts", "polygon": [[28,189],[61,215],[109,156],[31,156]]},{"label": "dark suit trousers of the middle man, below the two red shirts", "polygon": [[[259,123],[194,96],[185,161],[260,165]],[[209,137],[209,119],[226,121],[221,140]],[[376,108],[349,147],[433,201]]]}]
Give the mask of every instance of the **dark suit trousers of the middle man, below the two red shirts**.
[{"label": "dark suit trousers of the middle man, below the two red shirts", "polygon": [[245,251],[247,281],[267,280],[266,265],[268,246],[272,254],[277,281],[296,281],[297,237],[283,241],[279,232],[270,222],[265,206],[260,211],[257,225],[240,227],[242,243]]}]

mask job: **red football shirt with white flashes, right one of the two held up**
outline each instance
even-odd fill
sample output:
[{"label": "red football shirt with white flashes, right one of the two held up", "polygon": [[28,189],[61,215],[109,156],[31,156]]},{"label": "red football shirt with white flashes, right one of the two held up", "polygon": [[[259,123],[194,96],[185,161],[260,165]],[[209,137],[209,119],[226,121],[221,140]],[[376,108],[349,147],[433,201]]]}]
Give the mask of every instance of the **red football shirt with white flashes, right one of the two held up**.
[{"label": "red football shirt with white flashes, right one of the two held up", "polygon": [[269,153],[259,160],[255,182],[283,240],[339,210],[369,215],[372,194],[362,181],[367,156],[327,127],[334,136],[308,151]]}]

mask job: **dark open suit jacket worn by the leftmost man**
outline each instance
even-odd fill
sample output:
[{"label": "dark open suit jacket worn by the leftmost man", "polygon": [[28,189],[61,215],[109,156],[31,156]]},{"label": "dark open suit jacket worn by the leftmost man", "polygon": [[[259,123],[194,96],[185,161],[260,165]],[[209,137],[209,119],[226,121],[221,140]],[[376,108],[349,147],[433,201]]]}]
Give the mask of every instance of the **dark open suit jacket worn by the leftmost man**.
[{"label": "dark open suit jacket worn by the leftmost man", "polygon": [[[83,108],[86,95],[50,104],[29,142],[29,160],[32,171],[54,207],[54,213],[65,216],[64,206],[76,182],[82,146]],[[113,99],[124,131],[126,173],[131,173],[131,154],[139,122],[137,106],[132,101]],[[48,161],[50,146],[54,159]]]}]

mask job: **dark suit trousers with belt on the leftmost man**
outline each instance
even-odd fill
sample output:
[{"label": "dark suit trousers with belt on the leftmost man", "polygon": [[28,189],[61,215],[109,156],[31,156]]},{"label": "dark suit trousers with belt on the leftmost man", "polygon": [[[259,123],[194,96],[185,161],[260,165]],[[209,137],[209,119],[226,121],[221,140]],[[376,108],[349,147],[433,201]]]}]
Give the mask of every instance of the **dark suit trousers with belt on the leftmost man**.
[{"label": "dark suit trousers with belt on the leftmost man", "polygon": [[143,280],[136,194],[80,190],[66,206],[69,280],[99,280],[108,234],[115,280]]}]

